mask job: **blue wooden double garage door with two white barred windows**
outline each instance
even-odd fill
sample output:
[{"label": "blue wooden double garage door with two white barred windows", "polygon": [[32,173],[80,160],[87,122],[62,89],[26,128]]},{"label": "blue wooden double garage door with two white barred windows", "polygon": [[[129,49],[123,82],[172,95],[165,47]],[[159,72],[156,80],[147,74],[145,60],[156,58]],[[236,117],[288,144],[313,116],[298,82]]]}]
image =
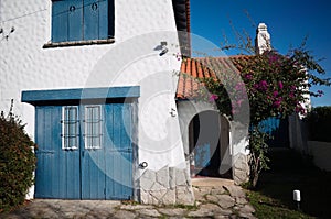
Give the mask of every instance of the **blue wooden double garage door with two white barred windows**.
[{"label": "blue wooden double garage door with two white barred windows", "polygon": [[35,198],[132,199],[132,105],[98,105],[96,146],[86,142],[87,107],[76,107],[78,143],[72,149],[63,147],[64,107],[35,108]]}]

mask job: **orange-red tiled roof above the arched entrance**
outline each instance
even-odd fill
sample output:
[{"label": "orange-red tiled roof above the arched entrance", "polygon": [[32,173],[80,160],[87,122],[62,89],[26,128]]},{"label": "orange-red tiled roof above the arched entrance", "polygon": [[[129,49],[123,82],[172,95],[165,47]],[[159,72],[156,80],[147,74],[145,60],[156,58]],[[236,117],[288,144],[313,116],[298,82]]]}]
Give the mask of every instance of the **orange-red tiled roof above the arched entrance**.
[{"label": "orange-red tiled roof above the arched entrance", "polygon": [[215,73],[207,68],[205,64],[217,65],[225,70],[234,70],[239,73],[243,69],[243,63],[254,56],[237,55],[229,57],[213,57],[213,58],[185,58],[182,61],[179,83],[175,97],[178,99],[193,98],[196,90],[202,86],[197,78],[216,78]]}]

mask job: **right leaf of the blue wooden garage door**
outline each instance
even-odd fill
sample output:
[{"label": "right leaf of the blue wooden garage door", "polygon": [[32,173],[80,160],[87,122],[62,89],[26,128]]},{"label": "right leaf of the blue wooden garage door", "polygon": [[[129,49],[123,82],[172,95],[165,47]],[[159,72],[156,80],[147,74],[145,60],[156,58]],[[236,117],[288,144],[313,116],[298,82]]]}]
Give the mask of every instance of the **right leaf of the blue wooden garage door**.
[{"label": "right leaf of the blue wooden garage door", "polygon": [[[88,127],[87,110],[88,107],[84,107],[84,127]],[[92,116],[94,121],[90,122],[94,124],[98,122],[96,114]],[[102,106],[100,116],[100,132],[93,133],[95,138],[100,134],[100,146],[86,146],[86,132],[83,134],[82,199],[131,199],[131,105]],[[97,145],[97,141],[94,144]]]}]

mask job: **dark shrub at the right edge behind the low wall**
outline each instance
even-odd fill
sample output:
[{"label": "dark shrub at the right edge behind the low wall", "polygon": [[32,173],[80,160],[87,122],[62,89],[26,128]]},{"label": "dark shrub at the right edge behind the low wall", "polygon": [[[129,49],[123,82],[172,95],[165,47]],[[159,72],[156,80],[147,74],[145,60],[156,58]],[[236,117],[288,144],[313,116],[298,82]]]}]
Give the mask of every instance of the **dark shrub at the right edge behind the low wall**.
[{"label": "dark shrub at the right edge behind the low wall", "polygon": [[331,142],[331,106],[313,108],[306,120],[309,140]]}]

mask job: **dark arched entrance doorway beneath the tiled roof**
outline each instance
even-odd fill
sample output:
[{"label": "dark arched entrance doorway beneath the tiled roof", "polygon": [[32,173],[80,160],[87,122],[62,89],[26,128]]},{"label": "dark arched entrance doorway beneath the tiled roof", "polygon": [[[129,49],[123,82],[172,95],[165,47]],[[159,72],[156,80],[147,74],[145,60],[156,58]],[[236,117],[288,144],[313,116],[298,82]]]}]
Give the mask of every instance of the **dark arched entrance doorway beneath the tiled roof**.
[{"label": "dark arched entrance doorway beneath the tiled roof", "polygon": [[232,178],[229,123],[217,111],[203,111],[189,124],[192,176]]}]

